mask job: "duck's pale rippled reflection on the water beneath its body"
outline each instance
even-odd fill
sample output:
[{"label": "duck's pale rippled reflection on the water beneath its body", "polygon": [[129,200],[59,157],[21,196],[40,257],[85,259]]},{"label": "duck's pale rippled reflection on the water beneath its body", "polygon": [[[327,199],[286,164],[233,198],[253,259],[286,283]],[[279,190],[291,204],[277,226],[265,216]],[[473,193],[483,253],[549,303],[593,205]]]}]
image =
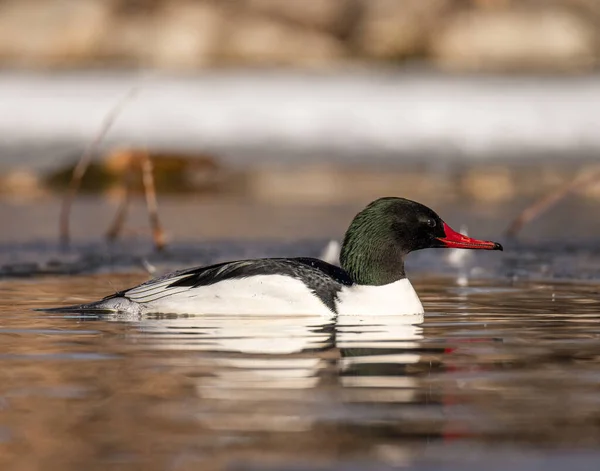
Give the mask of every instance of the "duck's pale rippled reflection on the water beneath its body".
[{"label": "duck's pale rippled reflection on the water beneath its body", "polygon": [[[411,401],[419,361],[417,316],[155,316],[136,343],[184,362],[196,418],[230,431],[307,431],[353,420],[352,404]],[[195,353],[195,354],[194,354]],[[165,357],[165,361],[167,358]]]}]

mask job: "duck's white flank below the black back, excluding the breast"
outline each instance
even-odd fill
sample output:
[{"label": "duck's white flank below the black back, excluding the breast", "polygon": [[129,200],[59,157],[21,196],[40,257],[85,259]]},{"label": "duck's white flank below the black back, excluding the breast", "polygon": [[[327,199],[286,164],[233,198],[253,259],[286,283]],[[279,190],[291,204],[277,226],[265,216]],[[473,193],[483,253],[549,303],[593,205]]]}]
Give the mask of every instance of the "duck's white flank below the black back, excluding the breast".
[{"label": "duck's white flank below the black back, excluding the breast", "polygon": [[285,275],[223,280],[197,288],[168,288],[176,279],[139,286],[125,295],[139,303],[140,314],[332,314],[302,281]]}]

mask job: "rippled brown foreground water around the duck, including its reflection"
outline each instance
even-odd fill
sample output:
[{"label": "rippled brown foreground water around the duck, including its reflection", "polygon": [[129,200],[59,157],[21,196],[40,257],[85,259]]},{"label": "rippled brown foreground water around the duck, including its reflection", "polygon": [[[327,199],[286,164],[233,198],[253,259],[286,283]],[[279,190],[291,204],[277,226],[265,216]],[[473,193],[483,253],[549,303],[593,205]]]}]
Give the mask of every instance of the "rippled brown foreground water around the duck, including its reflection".
[{"label": "rippled brown foreground water around the duck, including its reflection", "polygon": [[599,286],[415,278],[417,317],[59,316],[2,282],[0,468],[592,469]]}]

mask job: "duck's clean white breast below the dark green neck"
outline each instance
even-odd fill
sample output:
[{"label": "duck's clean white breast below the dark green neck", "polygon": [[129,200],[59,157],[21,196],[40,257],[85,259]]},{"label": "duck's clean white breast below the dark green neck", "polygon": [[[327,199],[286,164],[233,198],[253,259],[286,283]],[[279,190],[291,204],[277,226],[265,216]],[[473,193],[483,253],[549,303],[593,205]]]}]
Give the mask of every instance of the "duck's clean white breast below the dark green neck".
[{"label": "duck's clean white breast below the dark green neck", "polygon": [[410,281],[404,278],[382,286],[344,286],[337,311],[345,316],[423,314],[423,305]]}]

